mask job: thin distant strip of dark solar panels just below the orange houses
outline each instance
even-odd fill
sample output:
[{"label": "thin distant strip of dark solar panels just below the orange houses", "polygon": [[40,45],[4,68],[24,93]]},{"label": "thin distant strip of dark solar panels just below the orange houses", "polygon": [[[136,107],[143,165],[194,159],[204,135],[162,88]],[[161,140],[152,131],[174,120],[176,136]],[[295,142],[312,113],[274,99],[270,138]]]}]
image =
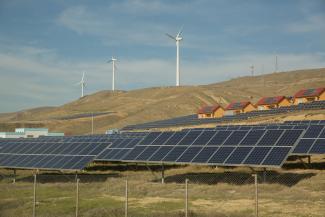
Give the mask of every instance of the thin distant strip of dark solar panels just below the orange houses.
[{"label": "thin distant strip of dark solar panels just below the orange houses", "polygon": [[207,118],[199,119],[196,114],[177,117],[167,120],[160,120],[154,122],[148,122],[143,124],[129,125],[124,127],[124,130],[134,130],[134,129],[151,129],[151,128],[164,128],[171,126],[184,126],[184,125],[199,125],[199,124],[211,124],[211,123],[222,123],[227,121],[237,121],[237,120],[247,120],[256,116],[265,116],[265,115],[274,115],[282,114],[300,110],[312,110],[312,109],[325,109],[325,101],[315,101],[310,103],[301,103],[298,105],[293,105],[289,107],[281,107],[271,110],[259,110],[252,111],[248,113],[233,115],[233,116],[224,116],[221,118]]}]

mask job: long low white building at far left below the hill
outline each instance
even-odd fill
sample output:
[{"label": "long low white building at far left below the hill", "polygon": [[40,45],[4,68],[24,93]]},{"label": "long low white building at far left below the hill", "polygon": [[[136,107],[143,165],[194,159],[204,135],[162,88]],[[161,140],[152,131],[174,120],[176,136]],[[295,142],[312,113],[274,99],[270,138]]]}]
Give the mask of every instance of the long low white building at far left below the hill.
[{"label": "long low white building at far left below the hill", "polygon": [[38,138],[41,136],[64,136],[64,133],[49,132],[47,128],[16,128],[15,132],[0,132],[0,138]]}]

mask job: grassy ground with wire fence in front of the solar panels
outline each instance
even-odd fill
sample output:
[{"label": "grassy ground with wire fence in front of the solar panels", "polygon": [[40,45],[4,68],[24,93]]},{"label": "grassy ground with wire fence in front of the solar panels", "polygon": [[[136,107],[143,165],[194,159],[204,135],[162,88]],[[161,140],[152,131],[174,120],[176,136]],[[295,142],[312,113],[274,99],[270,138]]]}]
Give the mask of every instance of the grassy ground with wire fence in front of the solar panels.
[{"label": "grassy ground with wire fence in front of the solar panels", "polygon": [[325,216],[325,172],[319,169],[97,169],[37,174],[35,203],[31,171],[14,177],[0,170],[0,217]]}]

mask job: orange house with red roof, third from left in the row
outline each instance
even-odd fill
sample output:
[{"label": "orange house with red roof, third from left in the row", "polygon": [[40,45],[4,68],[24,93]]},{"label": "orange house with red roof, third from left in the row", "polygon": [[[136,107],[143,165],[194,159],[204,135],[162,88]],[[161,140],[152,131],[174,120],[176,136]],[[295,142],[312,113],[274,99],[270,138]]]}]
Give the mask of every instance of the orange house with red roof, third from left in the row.
[{"label": "orange house with red roof, third from left in the row", "polygon": [[269,110],[290,105],[290,101],[285,96],[263,97],[256,103],[258,110]]}]

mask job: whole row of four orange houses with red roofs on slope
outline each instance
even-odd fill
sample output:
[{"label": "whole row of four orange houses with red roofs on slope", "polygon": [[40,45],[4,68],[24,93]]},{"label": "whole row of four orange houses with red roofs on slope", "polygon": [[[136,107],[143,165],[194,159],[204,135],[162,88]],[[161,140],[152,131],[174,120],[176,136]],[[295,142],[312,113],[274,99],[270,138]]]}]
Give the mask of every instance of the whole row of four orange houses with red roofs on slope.
[{"label": "whole row of four orange houses with red roofs on slope", "polygon": [[263,97],[255,105],[249,101],[232,102],[226,108],[220,105],[203,106],[198,110],[198,118],[220,118],[256,110],[269,110],[325,100],[325,88],[311,88],[298,91],[293,97]]}]

